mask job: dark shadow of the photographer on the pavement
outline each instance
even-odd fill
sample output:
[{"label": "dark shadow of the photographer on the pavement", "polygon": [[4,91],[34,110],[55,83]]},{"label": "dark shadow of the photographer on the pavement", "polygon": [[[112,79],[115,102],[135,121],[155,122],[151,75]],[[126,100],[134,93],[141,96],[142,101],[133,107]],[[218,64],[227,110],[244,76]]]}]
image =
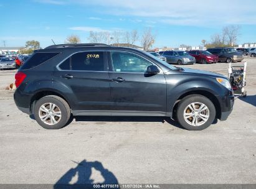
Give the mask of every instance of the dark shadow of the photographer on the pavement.
[{"label": "dark shadow of the photographer on the pavement", "polygon": [[[74,162],[74,161],[73,161]],[[107,168],[104,168],[101,162],[75,162],[77,167],[70,168],[60,179],[55,183],[54,189],[66,189],[66,188],[90,188],[92,185],[118,185],[118,180],[115,175]],[[92,175],[92,168],[95,168],[101,173],[104,178],[104,182],[95,183],[93,179],[90,179]],[[73,178],[77,177],[77,180],[72,183]]]}]

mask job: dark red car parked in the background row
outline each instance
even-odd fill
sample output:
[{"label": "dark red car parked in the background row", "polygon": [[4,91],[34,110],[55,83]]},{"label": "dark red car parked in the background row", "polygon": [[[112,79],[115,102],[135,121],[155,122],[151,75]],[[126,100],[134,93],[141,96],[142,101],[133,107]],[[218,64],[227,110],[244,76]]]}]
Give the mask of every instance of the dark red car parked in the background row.
[{"label": "dark red car parked in the background row", "polygon": [[190,50],[188,53],[196,58],[196,62],[200,63],[216,63],[219,61],[219,57],[213,55],[206,50]]}]

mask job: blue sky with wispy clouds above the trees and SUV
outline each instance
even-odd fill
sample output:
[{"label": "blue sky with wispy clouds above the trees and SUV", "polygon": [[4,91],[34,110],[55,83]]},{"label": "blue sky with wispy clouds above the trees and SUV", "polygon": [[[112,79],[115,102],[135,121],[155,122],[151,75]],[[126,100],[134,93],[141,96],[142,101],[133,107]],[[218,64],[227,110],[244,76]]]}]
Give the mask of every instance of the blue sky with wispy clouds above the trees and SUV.
[{"label": "blue sky with wispy clouds above the trees and SUV", "polygon": [[90,30],[141,34],[148,27],[156,35],[153,47],[197,46],[234,24],[244,44],[256,42],[255,7],[255,0],[0,0],[0,47],[38,40],[44,48],[72,34],[87,43]]}]

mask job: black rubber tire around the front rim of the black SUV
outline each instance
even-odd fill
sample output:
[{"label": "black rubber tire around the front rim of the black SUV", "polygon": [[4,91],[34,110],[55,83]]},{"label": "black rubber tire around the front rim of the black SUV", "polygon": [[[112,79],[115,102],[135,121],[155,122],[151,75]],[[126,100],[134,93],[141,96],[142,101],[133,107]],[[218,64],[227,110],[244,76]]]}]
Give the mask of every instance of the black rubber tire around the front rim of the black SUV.
[{"label": "black rubber tire around the front rim of the black SUV", "polygon": [[[186,118],[184,118],[184,111],[187,108],[187,106],[191,103],[203,103],[209,109],[209,118],[201,126],[191,126],[191,124],[187,123],[187,121],[185,120]],[[216,109],[214,104],[210,99],[200,94],[191,94],[189,96],[186,96],[185,98],[181,99],[181,101],[178,104],[178,109],[177,109],[178,122],[179,124],[181,124],[181,126],[183,126],[187,130],[201,131],[203,129],[206,129],[212,124],[212,122],[214,122],[215,118],[216,118]]]}]

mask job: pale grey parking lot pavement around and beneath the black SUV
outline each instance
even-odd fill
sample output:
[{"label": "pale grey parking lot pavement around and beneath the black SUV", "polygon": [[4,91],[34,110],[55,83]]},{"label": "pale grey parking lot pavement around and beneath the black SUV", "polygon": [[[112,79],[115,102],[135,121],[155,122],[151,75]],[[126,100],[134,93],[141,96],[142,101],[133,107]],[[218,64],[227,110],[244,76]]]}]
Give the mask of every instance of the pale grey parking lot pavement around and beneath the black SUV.
[{"label": "pale grey parking lot pavement around and beneath the black SUV", "polygon": [[[81,117],[50,131],[16,108],[0,72],[0,183],[256,183],[256,58],[227,121],[187,131],[169,118]],[[242,65],[242,63],[233,63]],[[227,63],[185,65],[227,75]]]}]

